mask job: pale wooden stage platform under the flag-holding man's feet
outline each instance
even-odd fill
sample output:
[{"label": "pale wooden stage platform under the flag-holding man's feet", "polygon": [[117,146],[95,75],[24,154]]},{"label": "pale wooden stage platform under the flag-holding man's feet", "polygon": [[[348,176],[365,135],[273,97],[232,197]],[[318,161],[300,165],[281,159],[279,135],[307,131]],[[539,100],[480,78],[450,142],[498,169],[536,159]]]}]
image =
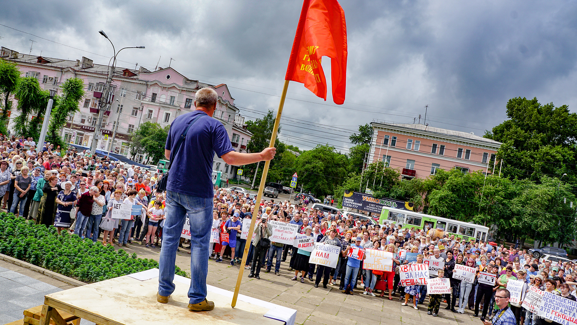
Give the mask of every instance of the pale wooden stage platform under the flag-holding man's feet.
[{"label": "pale wooden stage platform under the flag-holding man's feet", "polygon": [[[212,286],[207,298],[215,302],[215,309],[191,312],[187,308],[190,279],[177,275],[174,284],[168,304],[156,301],[158,269],[75,287],[47,294],[43,316],[57,308],[102,325],[294,325],[294,309],[242,295],[232,308],[233,293]],[[41,325],[48,324],[43,322],[46,320],[40,319]]]}]

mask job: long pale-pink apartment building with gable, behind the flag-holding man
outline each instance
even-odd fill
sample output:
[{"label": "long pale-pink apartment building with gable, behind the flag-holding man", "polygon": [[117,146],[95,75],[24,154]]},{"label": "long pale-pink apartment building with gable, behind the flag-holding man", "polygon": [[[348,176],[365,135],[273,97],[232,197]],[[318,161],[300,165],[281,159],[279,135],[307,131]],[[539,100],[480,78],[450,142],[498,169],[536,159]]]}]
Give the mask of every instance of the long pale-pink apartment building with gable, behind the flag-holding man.
[{"label": "long pale-pink apartment building with gable, behind the flag-holding man", "polygon": [[[0,58],[16,63],[23,77],[35,77],[43,89],[59,90],[66,79],[83,79],[86,95],[80,103],[80,112],[70,115],[61,135],[70,143],[90,146],[98,122],[98,100],[108,75],[107,65],[95,64],[85,57],[66,60],[20,54],[5,47],[0,48]],[[194,110],[194,94],[198,89],[212,87],[219,95],[213,117],[222,122],[235,149],[246,152],[246,144],[252,134],[246,130],[244,118],[234,105],[234,98],[226,84],[204,84],[188,79],[173,68],[159,68],[151,72],[143,67],[116,67],[112,87],[114,97],[104,112],[103,137],[97,145],[100,150],[110,150],[132,158],[129,152],[130,132],[145,121],[161,126],[170,125],[174,118]],[[17,116],[17,112],[12,114],[12,118]],[[147,157],[138,153],[134,160],[142,163],[146,162]],[[224,180],[235,178],[238,167],[228,166],[215,155],[213,170],[222,171],[224,174],[221,178]]]}]

